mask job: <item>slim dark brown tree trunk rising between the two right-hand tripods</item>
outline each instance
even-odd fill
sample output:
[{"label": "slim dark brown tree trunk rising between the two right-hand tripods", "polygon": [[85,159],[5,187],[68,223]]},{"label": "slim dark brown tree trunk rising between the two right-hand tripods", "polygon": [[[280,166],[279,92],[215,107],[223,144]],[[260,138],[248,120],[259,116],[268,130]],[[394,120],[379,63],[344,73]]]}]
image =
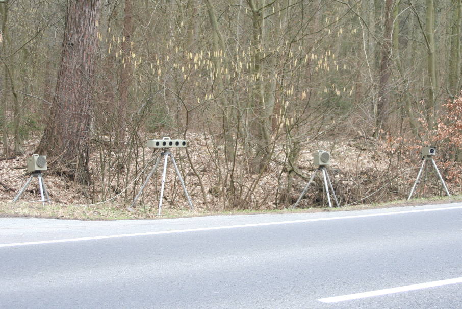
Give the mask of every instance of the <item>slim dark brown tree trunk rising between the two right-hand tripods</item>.
[{"label": "slim dark brown tree trunk rising between the two right-hand tripods", "polygon": [[385,29],[383,31],[382,42],[382,58],[380,60],[379,72],[379,90],[377,100],[377,115],[376,115],[376,131],[375,136],[380,134],[380,131],[388,131],[387,120],[390,113],[389,97],[390,97],[390,58],[392,56],[392,32],[393,32],[393,2],[387,0],[385,2]]}]

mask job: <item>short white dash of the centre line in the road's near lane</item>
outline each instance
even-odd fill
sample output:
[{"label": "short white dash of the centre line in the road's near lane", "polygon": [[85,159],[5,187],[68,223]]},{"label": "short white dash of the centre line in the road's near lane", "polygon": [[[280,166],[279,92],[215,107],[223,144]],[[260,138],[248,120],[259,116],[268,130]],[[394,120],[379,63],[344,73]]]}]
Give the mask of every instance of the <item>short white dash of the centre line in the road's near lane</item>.
[{"label": "short white dash of the centre line in the road's near lane", "polygon": [[439,281],[432,281],[432,282],[426,282],[426,283],[419,283],[419,284],[411,284],[410,286],[404,286],[404,287],[383,289],[383,290],[356,293],[356,294],[348,294],[348,295],[335,296],[335,297],[327,297],[327,298],[318,299],[318,301],[325,302],[325,303],[340,302],[340,301],[360,299],[360,298],[366,298],[366,297],[374,297],[374,296],[394,294],[394,293],[400,293],[400,292],[441,287],[441,286],[447,286],[448,284],[455,284],[455,283],[462,283],[462,277],[446,279],[446,280],[439,280]]}]

